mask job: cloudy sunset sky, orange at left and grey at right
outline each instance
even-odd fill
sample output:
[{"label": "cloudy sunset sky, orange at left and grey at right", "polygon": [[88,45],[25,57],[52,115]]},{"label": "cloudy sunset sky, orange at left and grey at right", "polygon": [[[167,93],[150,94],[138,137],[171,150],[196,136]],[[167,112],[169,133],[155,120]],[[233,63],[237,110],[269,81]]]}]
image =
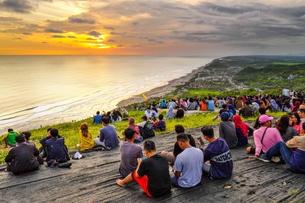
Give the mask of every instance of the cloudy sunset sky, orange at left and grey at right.
[{"label": "cloudy sunset sky, orange at left and grey at right", "polygon": [[305,53],[303,0],[0,0],[0,55]]}]

